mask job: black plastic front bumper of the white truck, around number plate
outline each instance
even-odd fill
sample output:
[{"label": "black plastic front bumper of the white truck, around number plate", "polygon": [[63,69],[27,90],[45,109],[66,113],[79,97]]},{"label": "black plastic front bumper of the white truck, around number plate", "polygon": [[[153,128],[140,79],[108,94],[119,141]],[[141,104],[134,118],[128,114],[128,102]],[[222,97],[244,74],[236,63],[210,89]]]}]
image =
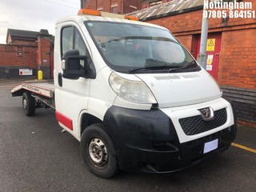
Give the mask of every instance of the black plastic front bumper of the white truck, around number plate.
[{"label": "black plastic front bumper of the white truck, around number plate", "polygon": [[[235,125],[189,142],[180,142],[174,123],[162,110],[130,110],[112,106],[104,123],[114,142],[122,170],[168,173],[193,166],[228,149]],[[218,148],[203,154],[206,142],[218,138]]]}]

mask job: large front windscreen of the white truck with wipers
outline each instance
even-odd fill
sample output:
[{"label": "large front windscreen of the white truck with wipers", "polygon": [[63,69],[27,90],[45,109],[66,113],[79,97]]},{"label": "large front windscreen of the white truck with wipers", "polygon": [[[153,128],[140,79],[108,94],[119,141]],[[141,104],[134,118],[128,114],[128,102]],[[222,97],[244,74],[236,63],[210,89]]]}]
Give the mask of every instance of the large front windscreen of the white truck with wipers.
[{"label": "large front windscreen of the white truck with wipers", "polygon": [[135,72],[197,68],[169,30],[120,22],[85,23],[102,57],[114,70]]}]

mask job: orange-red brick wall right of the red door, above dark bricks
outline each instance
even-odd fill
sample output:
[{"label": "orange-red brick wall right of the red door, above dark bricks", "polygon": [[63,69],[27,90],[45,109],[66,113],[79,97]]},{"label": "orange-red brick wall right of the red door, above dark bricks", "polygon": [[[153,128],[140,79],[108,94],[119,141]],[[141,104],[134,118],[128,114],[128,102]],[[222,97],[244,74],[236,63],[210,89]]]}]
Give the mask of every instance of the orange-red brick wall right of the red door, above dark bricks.
[{"label": "orange-red brick wall right of the red door, above dark bricks", "polygon": [[222,33],[218,82],[225,86],[256,89],[256,29]]}]

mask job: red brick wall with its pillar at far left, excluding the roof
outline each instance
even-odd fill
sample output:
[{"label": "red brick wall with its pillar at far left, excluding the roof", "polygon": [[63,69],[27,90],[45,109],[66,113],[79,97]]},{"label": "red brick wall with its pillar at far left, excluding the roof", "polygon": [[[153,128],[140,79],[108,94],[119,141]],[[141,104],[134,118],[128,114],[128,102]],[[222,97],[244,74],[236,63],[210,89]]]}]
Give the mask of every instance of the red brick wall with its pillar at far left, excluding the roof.
[{"label": "red brick wall with its pillar at far left, excluding the roof", "polygon": [[[19,42],[22,43],[23,40]],[[23,45],[0,45],[0,78],[24,78],[25,76],[19,75],[20,69],[33,70],[32,76],[35,78],[38,69],[43,71],[43,78],[52,77],[54,47],[50,42],[50,35],[39,36],[36,46],[27,46],[30,43],[31,41],[24,42]]]}]

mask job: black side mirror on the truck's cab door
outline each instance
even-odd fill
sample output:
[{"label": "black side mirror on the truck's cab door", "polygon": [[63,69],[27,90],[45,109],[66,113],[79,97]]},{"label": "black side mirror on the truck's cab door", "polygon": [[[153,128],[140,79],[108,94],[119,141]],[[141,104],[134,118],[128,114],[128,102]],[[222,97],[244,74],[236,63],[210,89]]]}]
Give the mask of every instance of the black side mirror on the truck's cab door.
[{"label": "black side mirror on the truck's cab door", "polygon": [[[62,70],[63,78],[77,79],[77,78],[91,78],[90,64],[85,55],[79,55],[78,50],[68,50],[63,55]],[[94,67],[93,67],[94,69]],[[94,70],[95,71],[95,70]],[[96,77],[96,76],[95,76]]]}]

